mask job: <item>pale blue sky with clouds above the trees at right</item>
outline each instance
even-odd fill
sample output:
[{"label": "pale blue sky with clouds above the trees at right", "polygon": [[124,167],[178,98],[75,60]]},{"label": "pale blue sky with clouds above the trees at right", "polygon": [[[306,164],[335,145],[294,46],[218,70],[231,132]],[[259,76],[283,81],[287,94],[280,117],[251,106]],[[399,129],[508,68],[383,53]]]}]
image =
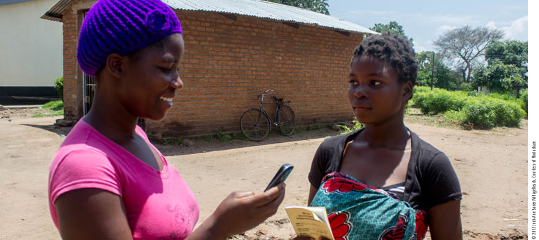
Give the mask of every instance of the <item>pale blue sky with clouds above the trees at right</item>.
[{"label": "pale blue sky with clouds above the trees at right", "polygon": [[499,28],[506,39],[528,41],[528,1],[328,0],[330,15],[366,28],[396,21],[415,51],[432,51],[440,34],[462,25]]}]

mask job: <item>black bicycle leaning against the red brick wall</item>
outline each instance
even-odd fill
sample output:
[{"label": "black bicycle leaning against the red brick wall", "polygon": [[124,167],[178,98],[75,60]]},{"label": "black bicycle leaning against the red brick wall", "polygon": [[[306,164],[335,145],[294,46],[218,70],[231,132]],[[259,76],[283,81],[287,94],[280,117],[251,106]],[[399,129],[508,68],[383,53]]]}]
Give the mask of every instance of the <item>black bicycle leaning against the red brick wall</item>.
[{"label": "black bicycle leaning against the red brick wall", "polygon": [[[259,142],[264,139],[271,131],[272,126],[278,126],[280,131],[285,136],[290,136],[293,133],[295,122],[295,114],[286,103],[290,101],[282,101],[283,98],[277,98],[271,96],[275,103],[264,103],[264,95],[271,94],[272,89],[267,89],[266,92],[259,94],[257,97],[260,101],[259,108],[251,108],[246,112],[243,112],[239,121],[241,133],[248,139]],[[269,117],[268,113],[264,110],[264,104],[275,104],[275,121]]]}]

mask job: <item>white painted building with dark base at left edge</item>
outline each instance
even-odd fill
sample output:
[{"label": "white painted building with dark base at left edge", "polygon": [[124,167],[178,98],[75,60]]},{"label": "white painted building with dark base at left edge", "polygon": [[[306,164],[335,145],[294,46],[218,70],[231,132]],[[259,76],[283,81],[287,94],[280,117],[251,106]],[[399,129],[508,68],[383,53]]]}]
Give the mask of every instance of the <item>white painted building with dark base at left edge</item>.
[{"label": "white painted building with dark base at left edge", "polygon": [[0,0],[0,104],[11,96],[57,96],[62,24],[40,19],[57,0]]}]

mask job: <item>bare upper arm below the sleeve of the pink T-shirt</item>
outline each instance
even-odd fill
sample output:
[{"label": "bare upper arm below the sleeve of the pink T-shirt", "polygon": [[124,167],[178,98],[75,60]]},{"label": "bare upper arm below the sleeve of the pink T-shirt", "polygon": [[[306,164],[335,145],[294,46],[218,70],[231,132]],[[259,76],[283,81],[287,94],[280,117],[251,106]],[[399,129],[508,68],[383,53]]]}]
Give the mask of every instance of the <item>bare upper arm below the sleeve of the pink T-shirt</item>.
[{"label": "bare upper arm below the sleeve of the pink T-shirt", "polygon": [[62,239],[133,239],[120,196],[103,189],[77,189],[54,202]]}]

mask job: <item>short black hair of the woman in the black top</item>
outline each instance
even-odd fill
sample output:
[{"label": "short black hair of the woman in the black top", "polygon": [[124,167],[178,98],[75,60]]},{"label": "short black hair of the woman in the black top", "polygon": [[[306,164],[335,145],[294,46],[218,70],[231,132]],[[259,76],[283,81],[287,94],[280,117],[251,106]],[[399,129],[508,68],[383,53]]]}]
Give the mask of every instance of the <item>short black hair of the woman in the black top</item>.
[{"label": "short black hair of the woman in the black top", "polygon": [[351,65],[355,58],[371,55],[383,60],[396,71],[400,83],[410,81],[417,84],[417,61],[412,44],[401,35],[389,32],[371,35],[354,49]]}]

